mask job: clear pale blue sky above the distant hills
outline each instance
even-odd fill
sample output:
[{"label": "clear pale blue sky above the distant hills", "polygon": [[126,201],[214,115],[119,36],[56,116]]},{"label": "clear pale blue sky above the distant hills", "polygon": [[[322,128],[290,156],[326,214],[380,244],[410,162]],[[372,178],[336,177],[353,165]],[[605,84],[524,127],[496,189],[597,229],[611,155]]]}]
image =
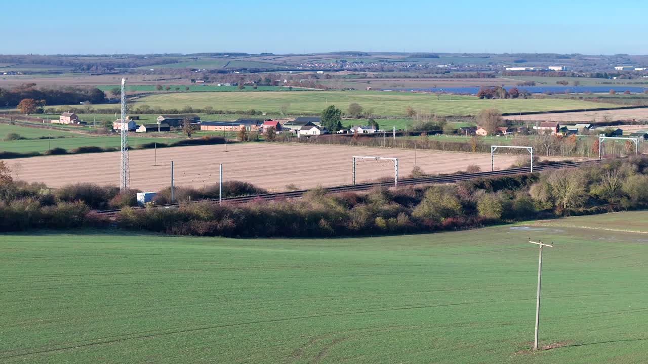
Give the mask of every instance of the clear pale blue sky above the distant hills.
[{"label": "clear pale blue sky above the distant hills", "polygon": [[648,54],[648,1],[7,0],[0,53]]}]

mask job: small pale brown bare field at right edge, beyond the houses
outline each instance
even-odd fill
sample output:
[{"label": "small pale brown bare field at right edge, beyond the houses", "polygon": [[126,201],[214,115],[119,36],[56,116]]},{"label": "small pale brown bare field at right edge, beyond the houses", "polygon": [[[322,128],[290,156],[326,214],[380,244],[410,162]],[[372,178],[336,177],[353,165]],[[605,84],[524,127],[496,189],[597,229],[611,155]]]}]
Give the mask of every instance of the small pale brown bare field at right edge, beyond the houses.
[{"label": "small pale brown bare field at right edge, beyond the houses", "polygon": [[579,111],[577,113],[549,113],[531,115],[512,115],[505,117],[511,120],[551,120],[559,122],[603,122],[608,120],[646,120],[648,119],[648,108],[621,109],[606,111]]}]

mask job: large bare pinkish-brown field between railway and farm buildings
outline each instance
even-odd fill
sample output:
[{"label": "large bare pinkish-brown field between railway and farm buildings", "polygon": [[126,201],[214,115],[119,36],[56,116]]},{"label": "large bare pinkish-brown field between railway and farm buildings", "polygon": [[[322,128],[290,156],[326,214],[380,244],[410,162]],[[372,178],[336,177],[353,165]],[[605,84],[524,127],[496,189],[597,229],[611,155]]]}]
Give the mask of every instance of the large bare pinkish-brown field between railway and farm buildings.
[{"label": "large bare pinkish-brown field between railway and farm buildings", "polygon": [[[294,184],[299,188],[324,187],[351,183],[353,155],[379,155],[399,158],[399,177],[410,175],[414,166],[413,150],[365,148],[355,146],[325,146],[315,144],[244,143],[224,145],[184,146],[155,151],[130,151],[130,183],[139,190],[159,190],[170,184],[170,161],[174,161],[176,186],[202,187],[218,182],[218,163],[223,163],[224,181],[248,181],[268,190],[285,190]],[[526,157],[526,155],[524,156]],[[500,154],[495,168],[504,169],[520,158]],[[426,173],[449,173],[478,165],[489,170],[490,154],[469,154],[418,150],[416,161]],[[49,187],[68,183],[97,183],[119,185],[119,152],[79,155],[48,155],[8,159],[14,178],[43,182]],[[364,160],[356,165],[356,181],[393,177],[391,161]]]}]

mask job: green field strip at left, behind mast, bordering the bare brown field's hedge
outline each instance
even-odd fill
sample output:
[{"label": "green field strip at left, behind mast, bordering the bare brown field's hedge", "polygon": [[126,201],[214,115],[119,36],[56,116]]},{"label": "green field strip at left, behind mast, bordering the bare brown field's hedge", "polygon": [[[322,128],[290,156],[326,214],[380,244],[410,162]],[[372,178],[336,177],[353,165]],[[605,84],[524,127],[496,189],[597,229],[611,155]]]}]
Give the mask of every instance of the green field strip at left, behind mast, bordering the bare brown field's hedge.
[{"label": "green field strip at left, behind mast, bordering the bare brown field's hedge", "polygon": [[[138,146],[148,142],[174,142],[174,138],[156,138],[156,137],[128,137],[130,146]],[[100,137],[73,137],[73,138],[53,138],[53,139],[29,139],[21,141],[0,141],[0,152],[45,152],[51,148],[63,148],[72,150],[80,146],[100,146],[102,148],[114,147],[119,148],[121,139],[119,135],[100,136]]]}]

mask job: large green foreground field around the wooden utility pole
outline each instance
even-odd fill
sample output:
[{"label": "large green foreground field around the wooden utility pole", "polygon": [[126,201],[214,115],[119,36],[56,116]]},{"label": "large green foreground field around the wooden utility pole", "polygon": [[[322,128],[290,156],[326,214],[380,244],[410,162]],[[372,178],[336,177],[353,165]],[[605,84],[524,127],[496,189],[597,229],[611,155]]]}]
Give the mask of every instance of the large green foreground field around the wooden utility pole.
[{"label": "large green foreground field around the wooden utility pole", "polygon": [[[3,234],[0,361],[645,363],[647,219],[313,240]],[[559,347],[536,353],[529,236],[555,244],[540,345]]]}]

